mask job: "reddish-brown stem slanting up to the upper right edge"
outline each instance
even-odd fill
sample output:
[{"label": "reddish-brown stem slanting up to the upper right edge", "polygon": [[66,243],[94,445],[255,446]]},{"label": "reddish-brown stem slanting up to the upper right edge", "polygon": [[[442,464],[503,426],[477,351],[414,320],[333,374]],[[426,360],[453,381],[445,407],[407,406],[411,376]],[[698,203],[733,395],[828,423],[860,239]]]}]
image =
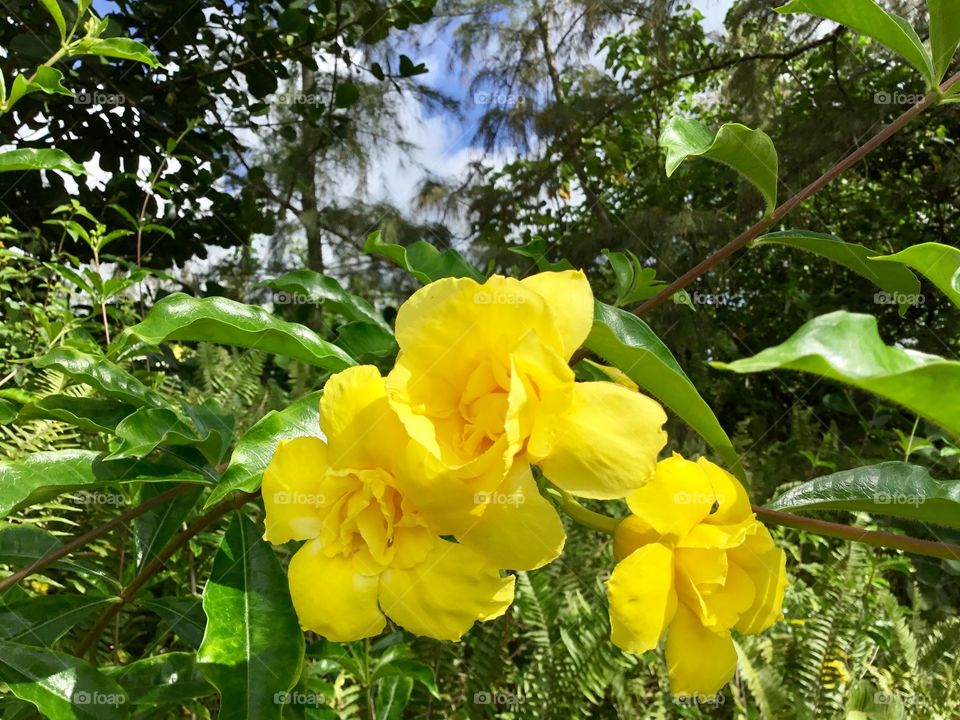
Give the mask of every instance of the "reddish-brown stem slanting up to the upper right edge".
[{"label": "reddish-brown stem slanting up to the upper right edge", "polygon": [[866,143],[861,145],[854,152],[847,155],[845,158],[843,158],[843,160],[836,163],[823,175],[803,188],[803,190],[785,201],[782,205],[780,205],[780,207],[773,211],[773,214],[770,217],[760,220],[751,228],[745,230],[715,253],[702,260],[700,263],[667,285],[667,287],[660,291],[660,293],[650,298],[645,303],[637,305],[630,312],[637,316],[645,315],[655,307],[666,302],[666,300],[678,290],[682,290],[683,288],[687,287],[694,280],[702,275],[705,275],[716,265],[733,255],[733,253],[745,247],[751,240],[756,240],[767,229],[780,222],[780,220],[782,220],[798,205],[836,180],[846,170],[863,160],[863,158],[883,145],[883,143],[889,140],[897,132],[906,127],[911,120],[920,115],[924,110],[929,108],[931,105],[936,104],[944,94],[946,94],[954,85],[957,85],[958,83],[960,83],[960,72],[951,77],[949,80],[946,80],[937,90],[927,93],[919,102],[910,106],[896,120],[884,127]]}]

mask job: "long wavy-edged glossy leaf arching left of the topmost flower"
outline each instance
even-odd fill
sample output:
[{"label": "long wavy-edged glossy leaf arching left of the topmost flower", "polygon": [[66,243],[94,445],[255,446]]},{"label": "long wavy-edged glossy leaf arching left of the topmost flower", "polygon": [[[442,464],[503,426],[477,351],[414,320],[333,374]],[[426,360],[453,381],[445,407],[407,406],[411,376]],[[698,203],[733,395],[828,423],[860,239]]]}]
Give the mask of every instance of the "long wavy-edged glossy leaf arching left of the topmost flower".
[{"label": "long wavy-edged glossy leaf arching left of the topmost flower", "polygon": [[199,300],[183,293],[165,297],[143,322],[128,328],[121,348],[136,338],[148,345],[167,340],[195,340],[286,355],[327,370],[344,370],[356,362],[310,328],[286,322],[261,307],[222,297]]}]

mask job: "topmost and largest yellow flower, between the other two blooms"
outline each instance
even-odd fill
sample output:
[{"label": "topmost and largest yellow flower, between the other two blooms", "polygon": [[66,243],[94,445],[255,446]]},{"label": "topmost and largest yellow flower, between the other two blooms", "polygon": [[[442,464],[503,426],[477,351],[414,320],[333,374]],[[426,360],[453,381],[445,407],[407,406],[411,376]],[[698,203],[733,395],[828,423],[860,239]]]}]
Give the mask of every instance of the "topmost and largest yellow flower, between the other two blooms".
[{"label": "topmost and largest yellow flower, between the other two blooms", "polygon": [[474,537],[499,567],[539,567],[563,546],[531,464],[573,495],[618,498],[652,477],[666,442],[650,398],[574,382],[568,362],[592,324],[575,271],[439,280],[397,315],[390,403],[447,468],[413,478],[411,497],[436,532]]}]

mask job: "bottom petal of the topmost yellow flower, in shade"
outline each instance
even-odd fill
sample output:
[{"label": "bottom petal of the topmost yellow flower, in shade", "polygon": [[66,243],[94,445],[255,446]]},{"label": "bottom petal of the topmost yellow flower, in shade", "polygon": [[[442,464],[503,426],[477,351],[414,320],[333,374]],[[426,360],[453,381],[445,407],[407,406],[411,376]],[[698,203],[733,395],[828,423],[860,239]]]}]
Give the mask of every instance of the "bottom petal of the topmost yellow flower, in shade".
[{"label": "bottom petal of the topmost yellow flower, in shade", "polygon": [[518,462],[492,493],[478,496],[483,514],[457,536],[498,568],[533,570],[563,550],[566,534],[556,510],[537,490],[530,466]]}]

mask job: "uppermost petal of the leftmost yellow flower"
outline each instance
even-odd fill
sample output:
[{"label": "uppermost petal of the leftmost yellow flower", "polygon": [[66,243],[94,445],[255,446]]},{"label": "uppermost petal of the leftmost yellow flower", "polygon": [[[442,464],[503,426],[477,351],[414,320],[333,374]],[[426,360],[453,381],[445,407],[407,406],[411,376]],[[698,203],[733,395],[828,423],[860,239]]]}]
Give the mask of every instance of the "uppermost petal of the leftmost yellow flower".
[{"label": "uppermost petal of the leftmost yellow flower", "polygon": [[330,447],[330,464],[352,470],[389,468],[408,439],[373,365],[348,368],[327,380],[320,428]]}]

